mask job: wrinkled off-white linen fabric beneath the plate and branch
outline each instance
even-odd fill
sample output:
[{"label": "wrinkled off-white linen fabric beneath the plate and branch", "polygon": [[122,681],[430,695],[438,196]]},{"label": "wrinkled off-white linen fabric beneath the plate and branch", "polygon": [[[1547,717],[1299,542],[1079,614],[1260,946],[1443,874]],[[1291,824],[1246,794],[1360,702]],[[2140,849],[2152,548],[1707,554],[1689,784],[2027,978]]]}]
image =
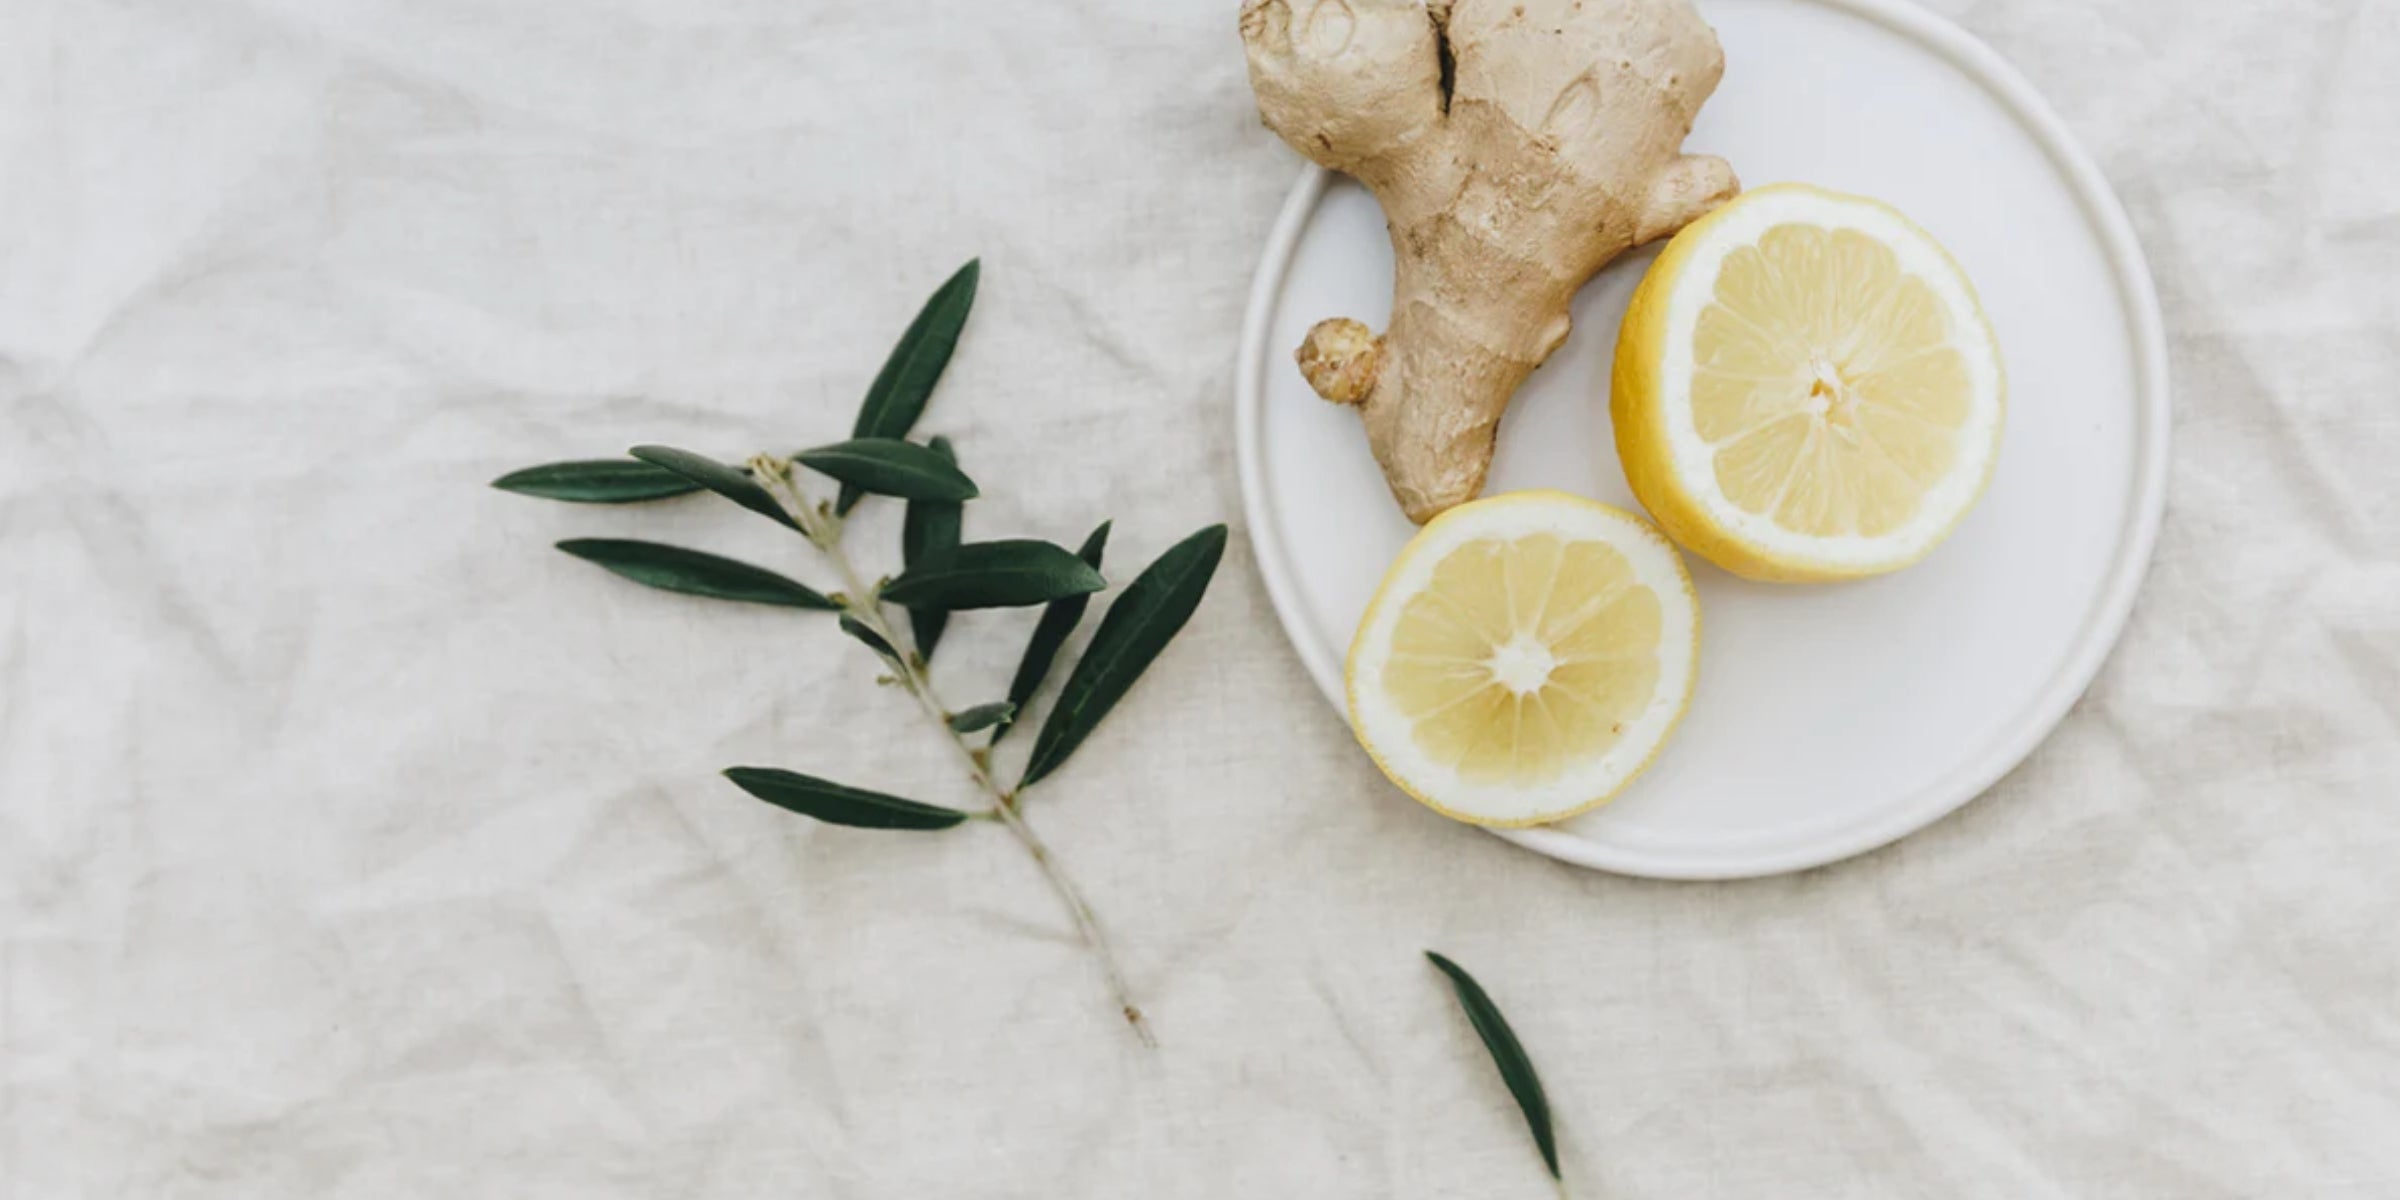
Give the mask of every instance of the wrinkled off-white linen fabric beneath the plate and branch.
[{"label": "wrinkled off-white linen fabric beneath the plate and branch", "polygon": [[[1397,797],[1274,626],[1231,0],[0,2],[0,1198],[1546,1195],[1428,946],[1577,1195],[2400,1195],[2400,5],[1934,7],[2150,254],[2158,559],[1992,794],[1670,886]],[[1001,828],[718,778],[972,802],[826,619],[550,550],[797,542],[485,487],[838,439],[972,254],[970,538],[1236,526],[1030,799],[1159,1051]]]}]

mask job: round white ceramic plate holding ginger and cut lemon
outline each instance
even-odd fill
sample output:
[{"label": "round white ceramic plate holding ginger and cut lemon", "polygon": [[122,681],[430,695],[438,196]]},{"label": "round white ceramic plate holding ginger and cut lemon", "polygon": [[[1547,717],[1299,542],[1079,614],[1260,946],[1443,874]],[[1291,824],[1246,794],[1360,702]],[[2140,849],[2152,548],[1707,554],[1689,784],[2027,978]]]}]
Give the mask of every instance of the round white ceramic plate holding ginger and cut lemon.
[{"label": "round white ceramic plate holding ginger and cut lemon", "polygon": [[[2158,298],[2107,182],[2040,96],[1903,0],[1702,0],[1726,82],[1687,149],[1750,185],[1896,204],[1975,278],[2009,365],[1982,504],[1932,559],[1867,583],[1778,588],[1697,559],[1702,670],[1658,763],[1606,809],[1510,830],[1555,859],[1735,878],[1843,859],[1958,809],[2090,684],[2134,605],[2167,480]],[[1608,439],[1608,365],[1649,266],[1608,266],[1574,334],[1517,394],[1490,492],[1565,487],[1637,509]],[[1358,418],[1291,348],[1320,317],[1390,314],[1375,199],[1310,170],[1250,295],[1238,374],[1243,506],[1274,610],[1325,696],[1399,516]],[[1392,804],[1409,804],[1390,792]]]}]

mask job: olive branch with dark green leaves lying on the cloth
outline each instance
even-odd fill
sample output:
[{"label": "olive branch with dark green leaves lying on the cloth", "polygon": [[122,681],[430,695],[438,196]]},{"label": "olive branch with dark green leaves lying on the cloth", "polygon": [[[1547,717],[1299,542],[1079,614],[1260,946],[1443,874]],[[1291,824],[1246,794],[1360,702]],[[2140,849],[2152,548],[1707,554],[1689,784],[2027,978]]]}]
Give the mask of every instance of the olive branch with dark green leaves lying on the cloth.
[{"label": "olive branch with dark green leaves lying on the cloth", "polygon": [[[840,581],[838,590],[665,542],[574,538],[559,542],[559,550],[650,588],[833,614],[842,634],[886,665],[883,682],[907,691],[926,722],[958,751],[982,806],[948,809],[782,768],[737,766],[725,778],[751,797],[833,826],[946,830],[967,821],[998,823],[1058,893],[1135,1037],[1157,1044],[1099,917],[1025,821],[1022,797],[1066,766],[1200,607],[1224,557],[1226,528],[1210,526],[1176,542],[1109,602],[1099,629],[1058,686],[1015,780],[1003,782],[1008,773],[998,768],[994,749],[1025,720],[1092,595],[1106,588],[1099,566],[1109,523],[1092,530],[1080,550],[1032,538],[967,542],[960,530],[965,504],[979,494],[974,480],[958,468],[946,439],[907,439],[967,324],[979,274],[977,262],[960,266],[924,302],[866,389],[847,442],[792,456],[756,454],[742,466],[672,446],[634,446],[626,458],[514,470],[492,480],[492,487],[576,504],[710,492],[799,533],[821,566]],[[833,497],[811,490],[818,478],[835,485]],[[907,502],[898,576],[869,576],[842,540],[845,518],[869,494]],[[950,612],[986,607],[1039,607],[1042,617],[1006,696],[953,708],[934,684],[934,648]],[[895,619],[895,610],[905,622]]]}]

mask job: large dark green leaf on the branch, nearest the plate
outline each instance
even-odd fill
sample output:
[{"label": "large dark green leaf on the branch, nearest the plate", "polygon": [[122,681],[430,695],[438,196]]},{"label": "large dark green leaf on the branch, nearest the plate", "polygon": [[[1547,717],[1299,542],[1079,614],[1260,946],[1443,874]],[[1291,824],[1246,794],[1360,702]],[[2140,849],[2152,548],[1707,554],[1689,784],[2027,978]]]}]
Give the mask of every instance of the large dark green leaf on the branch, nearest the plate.
[{"label": "large dark green leaf on the branch, nearest the plate", "polygon": [[1075,746],[1099,727],[1109,708],[1116,708],[1116,701],[1200,607],[1222,557],[1224,526],[1210,526],[1159,554],[1159,562],[1152,562],[1126,588],[1126,595],[1109,605],[1109,614],[1099,619],[1082,660],[1058,689],[1058,706],[1042,722],[1034,754],[1025,763],[1025,780],[1018,787],[1030,787],[1058,770],[1075,754]]}]

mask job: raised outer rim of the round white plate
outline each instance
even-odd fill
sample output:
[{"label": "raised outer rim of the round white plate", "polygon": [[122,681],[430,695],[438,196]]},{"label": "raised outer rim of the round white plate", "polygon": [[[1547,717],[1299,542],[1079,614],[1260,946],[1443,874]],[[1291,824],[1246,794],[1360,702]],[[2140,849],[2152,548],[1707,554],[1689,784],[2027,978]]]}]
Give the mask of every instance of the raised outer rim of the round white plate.
[{"label": "raised outer rim of the round white plate", "polygon": [[[1862,17],[1908,36],[1949,60],[1966,77],[1990,91],[2028,132],[2033,132],[2042,154],[2071,185],[2076,204],[2083,209],[2086,221],[2093,223],[2102,240],[2110,274],[2124,298],[2126,314],[2131,317],[2129,334],[2134,338],[2138,398],[2131,521],[2129,528],[2119,530],[2119,552],[2110,566],[2100,600],[2093,605],[2090,617],[2071,650],[2052,672],[2050,684],[2045,684],[2045,689],[2028,706],[2023,706],[2016,718],[2011,718],[1999,737],[1978,751],[1961,756],[1958,766],[1932,785],[1903,797],[1898,804],[1884,806],[1877,818],[1843,826],[1829,838],[1752,854],[1654,854],[1608,847],[1555,828],[1486,830],[1495,838],[1505,838],[1526,850],[1577,866],[1646,878],[1757,878],[1807,871],[1850,859],[1942,821],[1944,816],[1963,809],[1968,802],[1982,797],[2009,770],[2016,770],[2016,766],[2023,763],[2052,730],[2057,730],[2083,691],[2090,689],[2100,667],[2107,662],[2110,650],[2117,646],[2117,638],[2124,634],[2126,619],[2134,614],[2134,600],[2141,593],[2141,581],[2150,569],[2150,557],[2158,545],[2158,526],[2167,506],[2167,454],[2172,437],[2165,314],[2160,312],[2158,283],[2150,276],[2148,257],[2143,254],[2141,240],[2134,235],[2134,223],[2124,211],[2124,202],[2117,197],[2117,190],[2110,187],[2107,175],[2100,173],[2100,166],[2090,158],[2083,144],[2076,142],[2074,132],[2064,120],[2059,120],[2040,91],[2035,91],[2033,84],[1999,55],[1999,50],[1992,50],[1982,38],[1968,34],[1958,24],[1913,5],[1910,0],[1795,2],[1822,5]],[[1284,545],[1282,528],[1267,518],[1270,499],[1262,434],[1267,324],[1274,314],[1274,298],[1282,290],[1284,276],[1291,271],[1301,230],[1308,226],[1310,214],[1315,214],[1330,180],[1332,173],[1315,163],[1303,168],[1301,178],[1284,197],[1284,206],[1267,235],[1267,247],[1260,254],[1258,274],[1250,281],[1250,298],[1241,322],[1241,358],[1234,377],[1234,461],[1241,473],[1241,509],[1250,535],[1250,559],[1258,564],[1258,571],[1267,583],[1267,600],[1274,607],[1277,622],[1284,626],[1284,638],[1291,643],[1294,653],[1298,653],[1301,667],[1308,670],[1310,679],[1315,679],[1318,691],[1322,691],[1337,710],[1346,710],[1344,686],[1339,679],[1342,653],[1334,648],[1318,648],[1322,653],[1310,653],[1315,638],[1303,634],[1308,622],[1303,617],[1306,610],[1301,607],[1298,586],[1291,578],[1289,547]]]}]

